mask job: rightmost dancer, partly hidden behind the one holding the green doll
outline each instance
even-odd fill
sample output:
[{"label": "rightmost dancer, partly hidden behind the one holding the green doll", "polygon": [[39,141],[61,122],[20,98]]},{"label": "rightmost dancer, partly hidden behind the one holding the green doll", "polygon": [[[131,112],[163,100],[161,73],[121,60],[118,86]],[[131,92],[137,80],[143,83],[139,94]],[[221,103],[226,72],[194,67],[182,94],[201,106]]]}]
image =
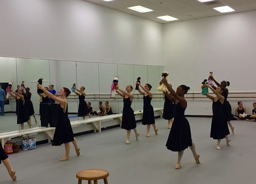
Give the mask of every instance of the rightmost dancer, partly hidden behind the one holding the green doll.
[{"label": "rightmost dancer, partly hidden behind the one holding the green doll", "polygon": [[[222,87],[224,87],[222,95],[224,96],[225,100],[224,100],[222,109],[223,109],[223,113],[224,113],[224,116],[225,116],[225,118],[226,118],[226,121],[227,121],[228,125],[229,125],[230,128],[231,128],[232,134],[235,134],[235,127],[231,124],[232,108],[231,108],[230,103],[227,101],[227,98],[228,98],[228,89],[227,89],[227,86],[230,85],[230,82],[228,82],[228,81],[221,81],[220,84],[219,84],[219,82],[217,82],[217,81],[214,79],[213,76],[210,76],[209,79],[212,79],[212,81],[214,81],[217,86],[222,86]],[[212,86],[212,87],[213,87],[213,89],[216,89],[215,86]]]}]

